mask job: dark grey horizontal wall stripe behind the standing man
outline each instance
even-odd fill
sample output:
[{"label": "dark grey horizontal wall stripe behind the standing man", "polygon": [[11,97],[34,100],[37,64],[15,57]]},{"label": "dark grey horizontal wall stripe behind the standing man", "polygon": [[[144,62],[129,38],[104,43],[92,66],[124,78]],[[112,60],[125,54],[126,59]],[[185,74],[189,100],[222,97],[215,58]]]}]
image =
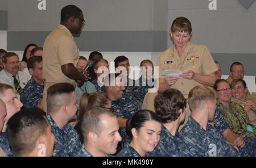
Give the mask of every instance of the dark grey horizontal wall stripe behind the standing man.
[{"label": "dark grey horizontal wall stripe behind the standing man", "polygon": [[[9,31],[7,50],[22,51],[29,43],[43,46],[49,32]],[[84,31],[75,37],[80,51],[160,52],[167,48],[167,31]]]}]

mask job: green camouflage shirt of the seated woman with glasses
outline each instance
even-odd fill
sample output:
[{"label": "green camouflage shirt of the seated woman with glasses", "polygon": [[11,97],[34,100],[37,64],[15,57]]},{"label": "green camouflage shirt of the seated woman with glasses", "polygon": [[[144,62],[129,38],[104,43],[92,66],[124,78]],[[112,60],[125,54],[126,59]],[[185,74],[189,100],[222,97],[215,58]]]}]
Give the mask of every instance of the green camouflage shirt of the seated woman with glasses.
[{"label": "green camouflage shirt of the seated woman with glasses", "polygon": [[217,100],[217,109],[222,113],[229,128],[238,136],[247,137],[256,135],[256,130],[253,125],[251,125],[251,127],[254,128],[253,132],[246,130],[247,125],[250,124],[250,120],[240,104],[231,100],[229,108],[226,108],[220,100]]}]

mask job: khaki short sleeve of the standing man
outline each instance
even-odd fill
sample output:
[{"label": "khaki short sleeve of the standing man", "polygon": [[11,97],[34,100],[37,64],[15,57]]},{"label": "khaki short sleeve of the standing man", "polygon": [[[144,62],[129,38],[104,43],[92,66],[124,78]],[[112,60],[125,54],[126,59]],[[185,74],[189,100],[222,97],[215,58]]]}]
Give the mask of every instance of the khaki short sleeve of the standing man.
[{"label": "khaki short sleeve of the standing man", "polygon": [[74,41],[69,36],[63,36],[57,45],[57,57],[60,65],[74,64]]}]

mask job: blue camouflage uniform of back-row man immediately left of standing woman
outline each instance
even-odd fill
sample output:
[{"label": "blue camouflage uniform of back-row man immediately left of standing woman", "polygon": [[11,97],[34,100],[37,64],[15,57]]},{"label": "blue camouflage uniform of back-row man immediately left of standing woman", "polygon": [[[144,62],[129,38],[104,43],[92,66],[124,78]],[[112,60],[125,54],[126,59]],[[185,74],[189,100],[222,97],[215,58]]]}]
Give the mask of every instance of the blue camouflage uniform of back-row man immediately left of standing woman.
[{"label": "blue camouflage uniform of back-row man immediately left of standing woman", "polygon": [[133,94],[135,97],[140,101],[143,102],[144,96],[146,95],[148,89],[154,87],[155,79],[146,80],[144,77],[141,77],[135,81],[134,87],[131,89],[133,90]]}]

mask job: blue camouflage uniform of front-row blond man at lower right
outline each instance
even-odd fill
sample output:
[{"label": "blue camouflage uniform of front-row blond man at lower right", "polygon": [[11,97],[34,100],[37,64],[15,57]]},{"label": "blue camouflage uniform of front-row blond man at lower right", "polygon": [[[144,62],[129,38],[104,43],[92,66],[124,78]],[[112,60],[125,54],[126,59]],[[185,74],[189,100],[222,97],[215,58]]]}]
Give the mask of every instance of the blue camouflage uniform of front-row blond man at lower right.
[{"label": "blue camouflage uniform of front-row blond man at lower right", "polygon": [[226,144],[216,128],[208,124],[207,130],[204,130],[191,116],[181,129],[180,135],[192,156],[240,156],[231,145]]}]

